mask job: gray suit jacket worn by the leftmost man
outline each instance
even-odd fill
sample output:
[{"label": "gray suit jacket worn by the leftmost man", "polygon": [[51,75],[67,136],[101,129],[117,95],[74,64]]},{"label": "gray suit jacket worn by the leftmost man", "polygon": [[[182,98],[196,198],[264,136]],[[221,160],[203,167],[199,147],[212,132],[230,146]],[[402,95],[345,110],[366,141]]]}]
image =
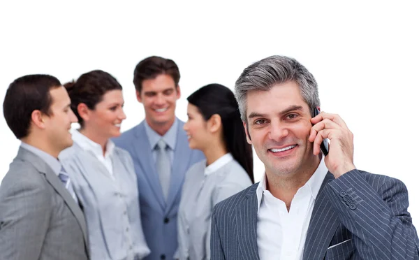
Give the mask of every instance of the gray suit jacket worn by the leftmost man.
[{"label": "gray suit jacket worn by the leftmost man", "polygon": [[88,259],[82,210],[52,169],[20,148],[0,187],[0,259]]}]

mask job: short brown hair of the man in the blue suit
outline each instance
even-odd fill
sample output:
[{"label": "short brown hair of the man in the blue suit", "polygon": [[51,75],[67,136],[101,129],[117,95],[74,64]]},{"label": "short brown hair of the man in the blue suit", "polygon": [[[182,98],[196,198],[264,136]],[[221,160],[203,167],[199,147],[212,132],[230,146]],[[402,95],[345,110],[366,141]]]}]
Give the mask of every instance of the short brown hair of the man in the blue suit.
[{"label": "short brown hair of the man in the blue suit", "polygon": [[156,78],[158,75],[166,74],[175,81],[175,87],[178,87],[180,80],[179,68],[172,59],[165,59],[158,56],[143,59],[135,66],[134,85],[138,92],[141,92],[142,82]]}]

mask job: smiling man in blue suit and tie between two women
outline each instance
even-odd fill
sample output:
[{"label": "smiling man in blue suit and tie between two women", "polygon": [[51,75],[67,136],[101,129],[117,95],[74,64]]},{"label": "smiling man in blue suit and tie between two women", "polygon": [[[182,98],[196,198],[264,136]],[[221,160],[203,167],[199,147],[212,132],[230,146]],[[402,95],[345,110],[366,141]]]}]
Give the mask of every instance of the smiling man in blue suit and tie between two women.
[{"label": "smiling man in blue suit and tie between two women", "polygon": [[152,56],[139,62],[133,82],[145,120],[114,139],[133,158],[142,229],[151,250],[147,260],[173,259],[184,176],[204,159],[202,152],[189,148],[184,122],[175,116],[179,79],[171,59]]}]

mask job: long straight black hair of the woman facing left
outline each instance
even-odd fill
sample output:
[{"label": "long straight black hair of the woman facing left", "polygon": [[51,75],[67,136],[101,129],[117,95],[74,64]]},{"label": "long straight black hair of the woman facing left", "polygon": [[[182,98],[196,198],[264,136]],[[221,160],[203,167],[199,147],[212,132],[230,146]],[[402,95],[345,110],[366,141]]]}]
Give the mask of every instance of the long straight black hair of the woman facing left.
[{"label": "long straight black hair of the woman facing left", "polygon": [[249,178],[253,178],[253,154],[251,145],[247,143],[239,106],[233,92],[220,84],[201,87],[188,97],[189,103],[196,106],[205,120],[212,115],[219,115],[223,124],[223,140],[228,152],[244,168]]}]

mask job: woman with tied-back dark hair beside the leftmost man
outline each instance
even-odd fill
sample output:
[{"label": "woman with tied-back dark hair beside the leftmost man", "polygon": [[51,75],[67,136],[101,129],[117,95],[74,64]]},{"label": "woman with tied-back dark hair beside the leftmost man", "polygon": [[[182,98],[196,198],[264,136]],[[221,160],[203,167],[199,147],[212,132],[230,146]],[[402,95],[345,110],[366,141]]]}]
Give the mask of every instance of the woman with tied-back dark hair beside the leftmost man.
[{"label": "woman with tied-back dark hair beside the leftmost man", "polygon": [[110,138],[126,118],[119,82],[90,71],[64,85],[80,129],[59,159],[84,211],[92,260],[133,260],[149,254],[142,233],[133,161]]}]

